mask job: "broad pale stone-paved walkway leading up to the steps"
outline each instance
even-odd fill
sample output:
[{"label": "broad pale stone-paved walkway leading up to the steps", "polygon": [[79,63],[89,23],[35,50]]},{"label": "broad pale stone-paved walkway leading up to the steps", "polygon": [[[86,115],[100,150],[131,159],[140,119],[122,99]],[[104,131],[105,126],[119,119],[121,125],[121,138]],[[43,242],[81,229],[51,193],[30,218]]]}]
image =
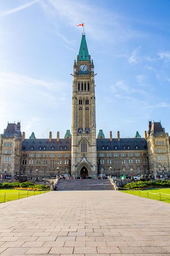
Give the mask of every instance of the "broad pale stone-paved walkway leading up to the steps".
[{"label": "broad pale stone-paved walkway leading up to the steps", "polygon": [[170,255],[170,204],[122,192],[52,191],[0,204],[0,255]]}]

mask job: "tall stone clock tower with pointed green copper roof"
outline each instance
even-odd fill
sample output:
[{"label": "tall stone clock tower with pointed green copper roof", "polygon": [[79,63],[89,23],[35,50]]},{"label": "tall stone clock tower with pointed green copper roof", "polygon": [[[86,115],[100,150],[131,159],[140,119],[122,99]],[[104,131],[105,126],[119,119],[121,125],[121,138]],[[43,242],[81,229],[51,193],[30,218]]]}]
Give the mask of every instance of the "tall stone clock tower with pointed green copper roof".
[{"label": "tall stone clock tower with pointed green copper roof", "polygon": [[71,174],[97,175],[94,65],[85,34],[73,68]]}]

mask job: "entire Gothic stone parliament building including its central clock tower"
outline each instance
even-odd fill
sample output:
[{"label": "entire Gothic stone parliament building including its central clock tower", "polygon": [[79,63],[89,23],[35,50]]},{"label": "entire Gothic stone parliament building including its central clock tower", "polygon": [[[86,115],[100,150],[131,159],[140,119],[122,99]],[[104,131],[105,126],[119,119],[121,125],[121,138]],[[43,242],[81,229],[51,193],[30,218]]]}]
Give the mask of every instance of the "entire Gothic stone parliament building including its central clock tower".
[{"label": "entire Gothic stone parliament building including its central clock tower", "polygon": [[29,139],[21,133],[20,122],[8,123],[0,136],[1,178],[48,179],[57,174],[92,176],[99,174],[153,174],[170,176],[170,137],[161,122],[148,123],[141,138],[105,138],[99,130],[96,138],[95,74],[88,52],[85,34],[82,35],[79,55],[73,66],[72,131],[65,138],[49,133],[48,139]]}]

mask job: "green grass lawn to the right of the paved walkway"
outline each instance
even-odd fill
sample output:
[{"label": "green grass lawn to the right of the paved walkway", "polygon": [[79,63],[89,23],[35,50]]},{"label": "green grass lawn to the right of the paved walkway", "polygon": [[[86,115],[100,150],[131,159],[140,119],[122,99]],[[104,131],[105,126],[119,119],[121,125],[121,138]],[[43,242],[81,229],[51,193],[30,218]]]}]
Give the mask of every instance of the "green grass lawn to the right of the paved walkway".
[{"label": "green grass lawn to the right of the paved walkway", "polygon": [[[170,203],[170,188],[153,188],[148,190],[119,190],[123,193],[133,194],[134,196],[146,197]],[[166,194],[166,195],[165,195]]]}]

